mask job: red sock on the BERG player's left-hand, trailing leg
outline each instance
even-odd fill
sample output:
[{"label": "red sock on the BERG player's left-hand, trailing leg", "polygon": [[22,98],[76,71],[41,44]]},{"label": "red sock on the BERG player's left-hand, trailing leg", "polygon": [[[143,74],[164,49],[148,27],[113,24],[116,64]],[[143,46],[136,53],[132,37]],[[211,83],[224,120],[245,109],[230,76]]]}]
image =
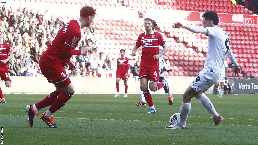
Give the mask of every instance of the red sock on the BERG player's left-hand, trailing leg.
[{"label": "red sock on the BERG player's left-hand, trailing leg", "polygon": [[59,95],[58,91],[54,91],[46,96],[43,100],[35,104],[38,110],[45,108],[47,106],[50,106],[53,104],[53,102],[57,99],[57,96]]}]

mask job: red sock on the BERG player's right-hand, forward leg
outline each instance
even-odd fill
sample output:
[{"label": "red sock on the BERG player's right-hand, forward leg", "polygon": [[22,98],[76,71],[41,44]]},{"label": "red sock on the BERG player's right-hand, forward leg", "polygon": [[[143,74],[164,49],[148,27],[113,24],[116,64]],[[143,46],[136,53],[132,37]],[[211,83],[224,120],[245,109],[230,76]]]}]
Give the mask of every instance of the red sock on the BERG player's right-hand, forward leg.
[{"label": "red sock on the BERG player's right-hand, forward leg", "polygon": [[72,94],[68,94],[66,92],[62,92],[58,95],[57,99],[55,99],[54,103],[49,108],[49,111],[51,113],[54,113],[55,111],[62,108],[65,103],[72,97]]}]

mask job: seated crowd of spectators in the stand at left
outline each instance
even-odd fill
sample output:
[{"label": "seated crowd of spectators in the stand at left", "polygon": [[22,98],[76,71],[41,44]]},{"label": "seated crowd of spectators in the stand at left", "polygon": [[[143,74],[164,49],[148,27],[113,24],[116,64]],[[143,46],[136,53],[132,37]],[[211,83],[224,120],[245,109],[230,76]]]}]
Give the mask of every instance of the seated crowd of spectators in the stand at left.
[{"label": "seated crowd of spectators in the stand at left", "polygon": [[[4,42],[11,46],[14,55],[9,62],[11,76],[43,76],[38,65],[40,56],[54,39],[58,30],[72,18],[55,18],[54,16],[46,18],[48,11],[33,13],[26,7],[14,10],[12,6],[6,8],[4,5],[0,9],[0,30],[4,33]],[[105,56],[103,52],[98,52],[98,41],[92,40],[95,33],[94,27],[82,29],[81,33],[82,37],[77,49],[81,47],[90,47],[90,49],[87,54],[72,56],[71,60],[77,66],[77,70],[70,71],[69,66],[65,66],[66,73],[69,73],[69,76],[79,77],[115,75],[117,60],[108,55]],[[132,68],[135,72],[133,64]]]}]

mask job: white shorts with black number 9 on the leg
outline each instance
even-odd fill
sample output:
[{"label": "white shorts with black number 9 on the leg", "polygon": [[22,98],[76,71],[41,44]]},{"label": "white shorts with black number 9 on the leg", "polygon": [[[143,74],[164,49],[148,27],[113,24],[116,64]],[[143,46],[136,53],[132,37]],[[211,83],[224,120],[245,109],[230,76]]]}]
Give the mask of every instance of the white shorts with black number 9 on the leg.
[{"label": "white shorts with black number 9 on the leg", "polygon": [[208,70],[200,71],[190,86],[199,94],[207,91],[220,78],[220,74]]}]

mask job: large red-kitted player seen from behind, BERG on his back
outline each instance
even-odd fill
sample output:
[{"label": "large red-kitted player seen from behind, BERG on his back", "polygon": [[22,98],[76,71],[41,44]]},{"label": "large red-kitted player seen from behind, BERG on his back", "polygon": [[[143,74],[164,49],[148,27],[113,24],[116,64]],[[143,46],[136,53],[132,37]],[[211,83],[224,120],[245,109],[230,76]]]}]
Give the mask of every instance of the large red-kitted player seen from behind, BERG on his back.
[{"label": "large red-kitted player seen from behind, BERG on his back", "polygon": [[80,55],[87,53],[87,47],[81,50],[74,50],[81,37],[80,30],[89,27],[95,18],[96,9],[91,6],[83,6],[80,10],[80,18],[78,20],[68,21],[54,37],[47,50],[42,54],[39,66],[42,74],[47,78],[49,83],[55,85],[56,91],[50,93],[42,101],[27,106],[27,115],[29,125],[33,126],[33,118],[38,110],[51,106],[46,112],[40,115],[41,119],[49,126],[56,128],[53,122],[53,114],[72,97],[74,94],[74,86],[72,85],[64,65],[68,64],[70,70],[76,69],[74,63],[70,60],[72,55]]}]

